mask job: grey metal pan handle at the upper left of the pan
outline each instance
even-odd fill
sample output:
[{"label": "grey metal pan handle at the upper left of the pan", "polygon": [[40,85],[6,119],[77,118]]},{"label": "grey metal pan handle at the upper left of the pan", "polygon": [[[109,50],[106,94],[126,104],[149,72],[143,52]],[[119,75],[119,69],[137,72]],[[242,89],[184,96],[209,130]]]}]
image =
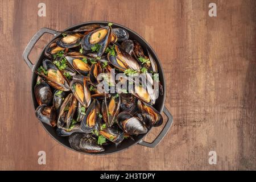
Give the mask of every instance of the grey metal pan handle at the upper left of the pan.
[{"label": "grey metal pan handle at the upper left of the pan", "polygon": [[30,55],[30,52],[32,51],[32,48],[35,46],[36,42],[38,42],[40,37],[42,35],[44,35],[45,33],[52,34],[55,36],[59,32],[56,30],[51,30],[49,28],[41,28],[38,32],[36,32],[36,34],[33,36],[33,38],[27,44],[27,47],[25,48],[25,50],[23,52],[23,55],[22,55],[23,59],[27,63],[27,65],[31,69],[31,71],[34,67],[34,64],[31,63],[30,59],[28,59],[28,56]]}]

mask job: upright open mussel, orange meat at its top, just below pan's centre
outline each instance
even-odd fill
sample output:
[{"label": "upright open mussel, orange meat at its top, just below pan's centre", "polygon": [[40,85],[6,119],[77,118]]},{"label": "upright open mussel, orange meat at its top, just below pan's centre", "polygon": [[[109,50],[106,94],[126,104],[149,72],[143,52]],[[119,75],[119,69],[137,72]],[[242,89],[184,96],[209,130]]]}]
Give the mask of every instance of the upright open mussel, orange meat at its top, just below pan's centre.
[{"label": "upright open mussel, orange meat at its top, just below pan's centre", "polygon": [[107,126],[112,126],[120,108],[120,97],[112,96],[109,100],[102,101],[101,113]]}]

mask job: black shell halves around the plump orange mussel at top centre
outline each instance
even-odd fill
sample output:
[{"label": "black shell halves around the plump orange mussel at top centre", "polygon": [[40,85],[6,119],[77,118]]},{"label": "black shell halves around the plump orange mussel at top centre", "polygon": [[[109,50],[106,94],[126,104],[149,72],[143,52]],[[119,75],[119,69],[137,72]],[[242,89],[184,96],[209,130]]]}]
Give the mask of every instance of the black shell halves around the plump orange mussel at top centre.
[{"label": "black shell halves around the plump orange mussel at top centre", "polygon": [[85,35],[84,38],[82,38],[82,48],[89,51],[96,44],[90,43],[91,36],[97,34],[98,31],[102,31],[103,29],[106,29],[108,32],[106,33],[104,38],[100,39],[100,42],[97,42],[97,44],[100,45],[100,49],[97,53],[98,57],[101,57],[103,55],[111,41],[112,28],[109,26],[98,28],[97,30],[90,32],[89,34]]}]

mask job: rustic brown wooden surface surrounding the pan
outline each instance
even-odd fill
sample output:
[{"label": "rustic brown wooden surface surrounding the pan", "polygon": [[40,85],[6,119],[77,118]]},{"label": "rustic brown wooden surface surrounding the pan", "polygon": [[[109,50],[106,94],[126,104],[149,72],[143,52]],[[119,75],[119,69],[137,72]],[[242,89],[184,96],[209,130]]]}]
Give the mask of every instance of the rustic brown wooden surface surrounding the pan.
[{"label": "rustic brown wooden surface surrounding the pan", "polygon": [[[38,4],[46,3],[46,17]],[[208,16],[210,2],[217,17]],[[256,1],[0,1],[0,169],[256,169]],[[164,68],[170,132],[156,148],[109,156],[64,148],[34,114],[31,71],[22,53],[42,27],[63,30],[90,20],[142,35]],[[51,36],[31,54],[36,60]],[[152,140],[160,129],[147,137]],[[46,165],[38,151],[46,151]],[[209,165],[208,153],[217,152]]]}]

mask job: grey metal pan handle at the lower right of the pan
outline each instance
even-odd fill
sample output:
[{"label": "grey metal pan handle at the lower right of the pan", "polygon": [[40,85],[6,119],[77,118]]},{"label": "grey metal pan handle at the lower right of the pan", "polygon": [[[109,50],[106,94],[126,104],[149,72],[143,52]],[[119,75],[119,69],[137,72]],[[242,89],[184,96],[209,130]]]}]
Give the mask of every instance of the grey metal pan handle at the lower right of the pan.
[{"label": "grey metal pan handle at the lower right of the pan", "polygon": [[143,140],[141,140],[141,142],[139,142],[138,144],[145,146],[145,147],[154,148],[161,142],[161,140],[164,138],[164,136],[166,136],[167,132],[171,128],[173,118],[172,118],[171,113],[166,108],[166,106],[164,106],[163,112],[167,116],[167,122],[166,122],[166,125],[164,125],[163,130],[160,132],[158,137],[156,137],[156,139],[152,143],[144,142]]}]

